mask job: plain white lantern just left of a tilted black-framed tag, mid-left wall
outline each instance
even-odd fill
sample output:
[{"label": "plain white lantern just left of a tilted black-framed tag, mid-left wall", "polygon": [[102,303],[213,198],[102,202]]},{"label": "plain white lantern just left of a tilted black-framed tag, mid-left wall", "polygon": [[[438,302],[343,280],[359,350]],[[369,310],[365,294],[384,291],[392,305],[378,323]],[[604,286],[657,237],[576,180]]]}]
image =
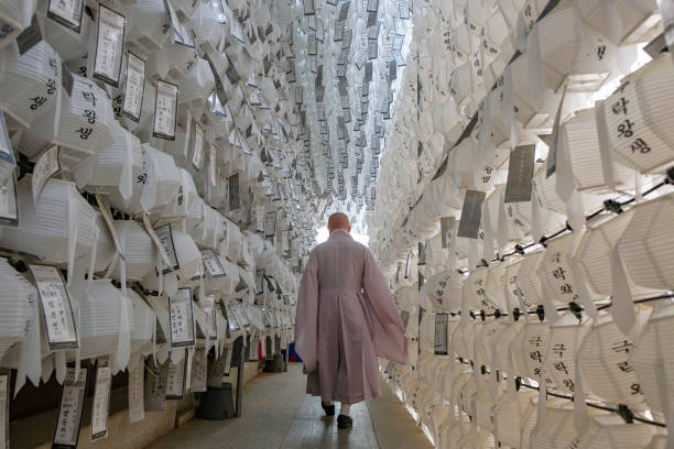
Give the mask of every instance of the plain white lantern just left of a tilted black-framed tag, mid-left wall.
[{"label": "plain white lantern just left of a tilted black-framed tag, mid-left wall", "polygon": [[[115,220],[113,226],[124,253],[127,281],[142,281],[159,261],[152,238],[141,225],[132,220]],[[121,280],[119,266],[115,267],[112,276]]]}]

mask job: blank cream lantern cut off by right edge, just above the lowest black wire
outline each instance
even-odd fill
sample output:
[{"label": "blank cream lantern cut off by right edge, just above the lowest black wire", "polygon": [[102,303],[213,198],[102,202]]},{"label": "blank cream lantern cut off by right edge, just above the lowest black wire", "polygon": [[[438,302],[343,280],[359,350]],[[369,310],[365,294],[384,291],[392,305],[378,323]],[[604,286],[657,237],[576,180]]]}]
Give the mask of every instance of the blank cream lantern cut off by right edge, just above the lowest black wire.
[{"label": "blank cream lantern cut off by right edge, just above the lowest black wire", "polygon": [[[629,364],[634,366],[641,392],[652,409],[664,413],[672,407],[674,388],[674,357],[671,344],[674,341],[674,307],[656,309],[634,342]],[[668,394],[665,394],[666,390]],[[670,404],[665,403],[668,398]]]}]

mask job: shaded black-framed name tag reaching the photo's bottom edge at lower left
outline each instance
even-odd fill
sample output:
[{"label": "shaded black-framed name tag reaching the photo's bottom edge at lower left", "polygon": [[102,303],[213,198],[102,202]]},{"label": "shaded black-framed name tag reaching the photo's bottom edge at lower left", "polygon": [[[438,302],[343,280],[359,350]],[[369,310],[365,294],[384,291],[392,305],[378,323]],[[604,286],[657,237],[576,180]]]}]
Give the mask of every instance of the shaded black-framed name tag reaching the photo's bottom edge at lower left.
[{"label": "shaded black-framed name tag reaching the photo's bottom edge at lower left", "polygon": [[75,381],[75,369],[68,368],[67,370],[52,449],[75,449],[77,447],[88,374],[88,370],[80,370]]}]

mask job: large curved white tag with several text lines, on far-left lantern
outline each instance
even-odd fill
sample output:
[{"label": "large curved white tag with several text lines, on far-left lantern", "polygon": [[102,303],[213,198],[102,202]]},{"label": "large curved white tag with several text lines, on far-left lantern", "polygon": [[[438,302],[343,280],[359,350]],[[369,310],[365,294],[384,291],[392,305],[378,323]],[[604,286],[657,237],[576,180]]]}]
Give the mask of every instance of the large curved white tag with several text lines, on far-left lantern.
[{"label": "large curved white tag with several text lines, on far-left lantern", "polygon": [[50,350],[77,349],[70,297],[61,271],[51,265],[29,264],[42,304]]}]

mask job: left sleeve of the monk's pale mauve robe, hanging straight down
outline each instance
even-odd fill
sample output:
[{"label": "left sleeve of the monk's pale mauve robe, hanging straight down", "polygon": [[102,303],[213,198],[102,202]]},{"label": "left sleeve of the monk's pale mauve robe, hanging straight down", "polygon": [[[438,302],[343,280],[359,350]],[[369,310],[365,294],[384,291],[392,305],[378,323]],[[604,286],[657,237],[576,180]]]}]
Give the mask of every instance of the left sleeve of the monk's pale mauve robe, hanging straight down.
[{"label": "left sleeve of the monk's pale mauve robe, hanging straight down", "polygon": [[316,346],[318,333],[318,256],[312,251],[302,275],[295,319],[295,351],[307,373],[318,368]]}]

